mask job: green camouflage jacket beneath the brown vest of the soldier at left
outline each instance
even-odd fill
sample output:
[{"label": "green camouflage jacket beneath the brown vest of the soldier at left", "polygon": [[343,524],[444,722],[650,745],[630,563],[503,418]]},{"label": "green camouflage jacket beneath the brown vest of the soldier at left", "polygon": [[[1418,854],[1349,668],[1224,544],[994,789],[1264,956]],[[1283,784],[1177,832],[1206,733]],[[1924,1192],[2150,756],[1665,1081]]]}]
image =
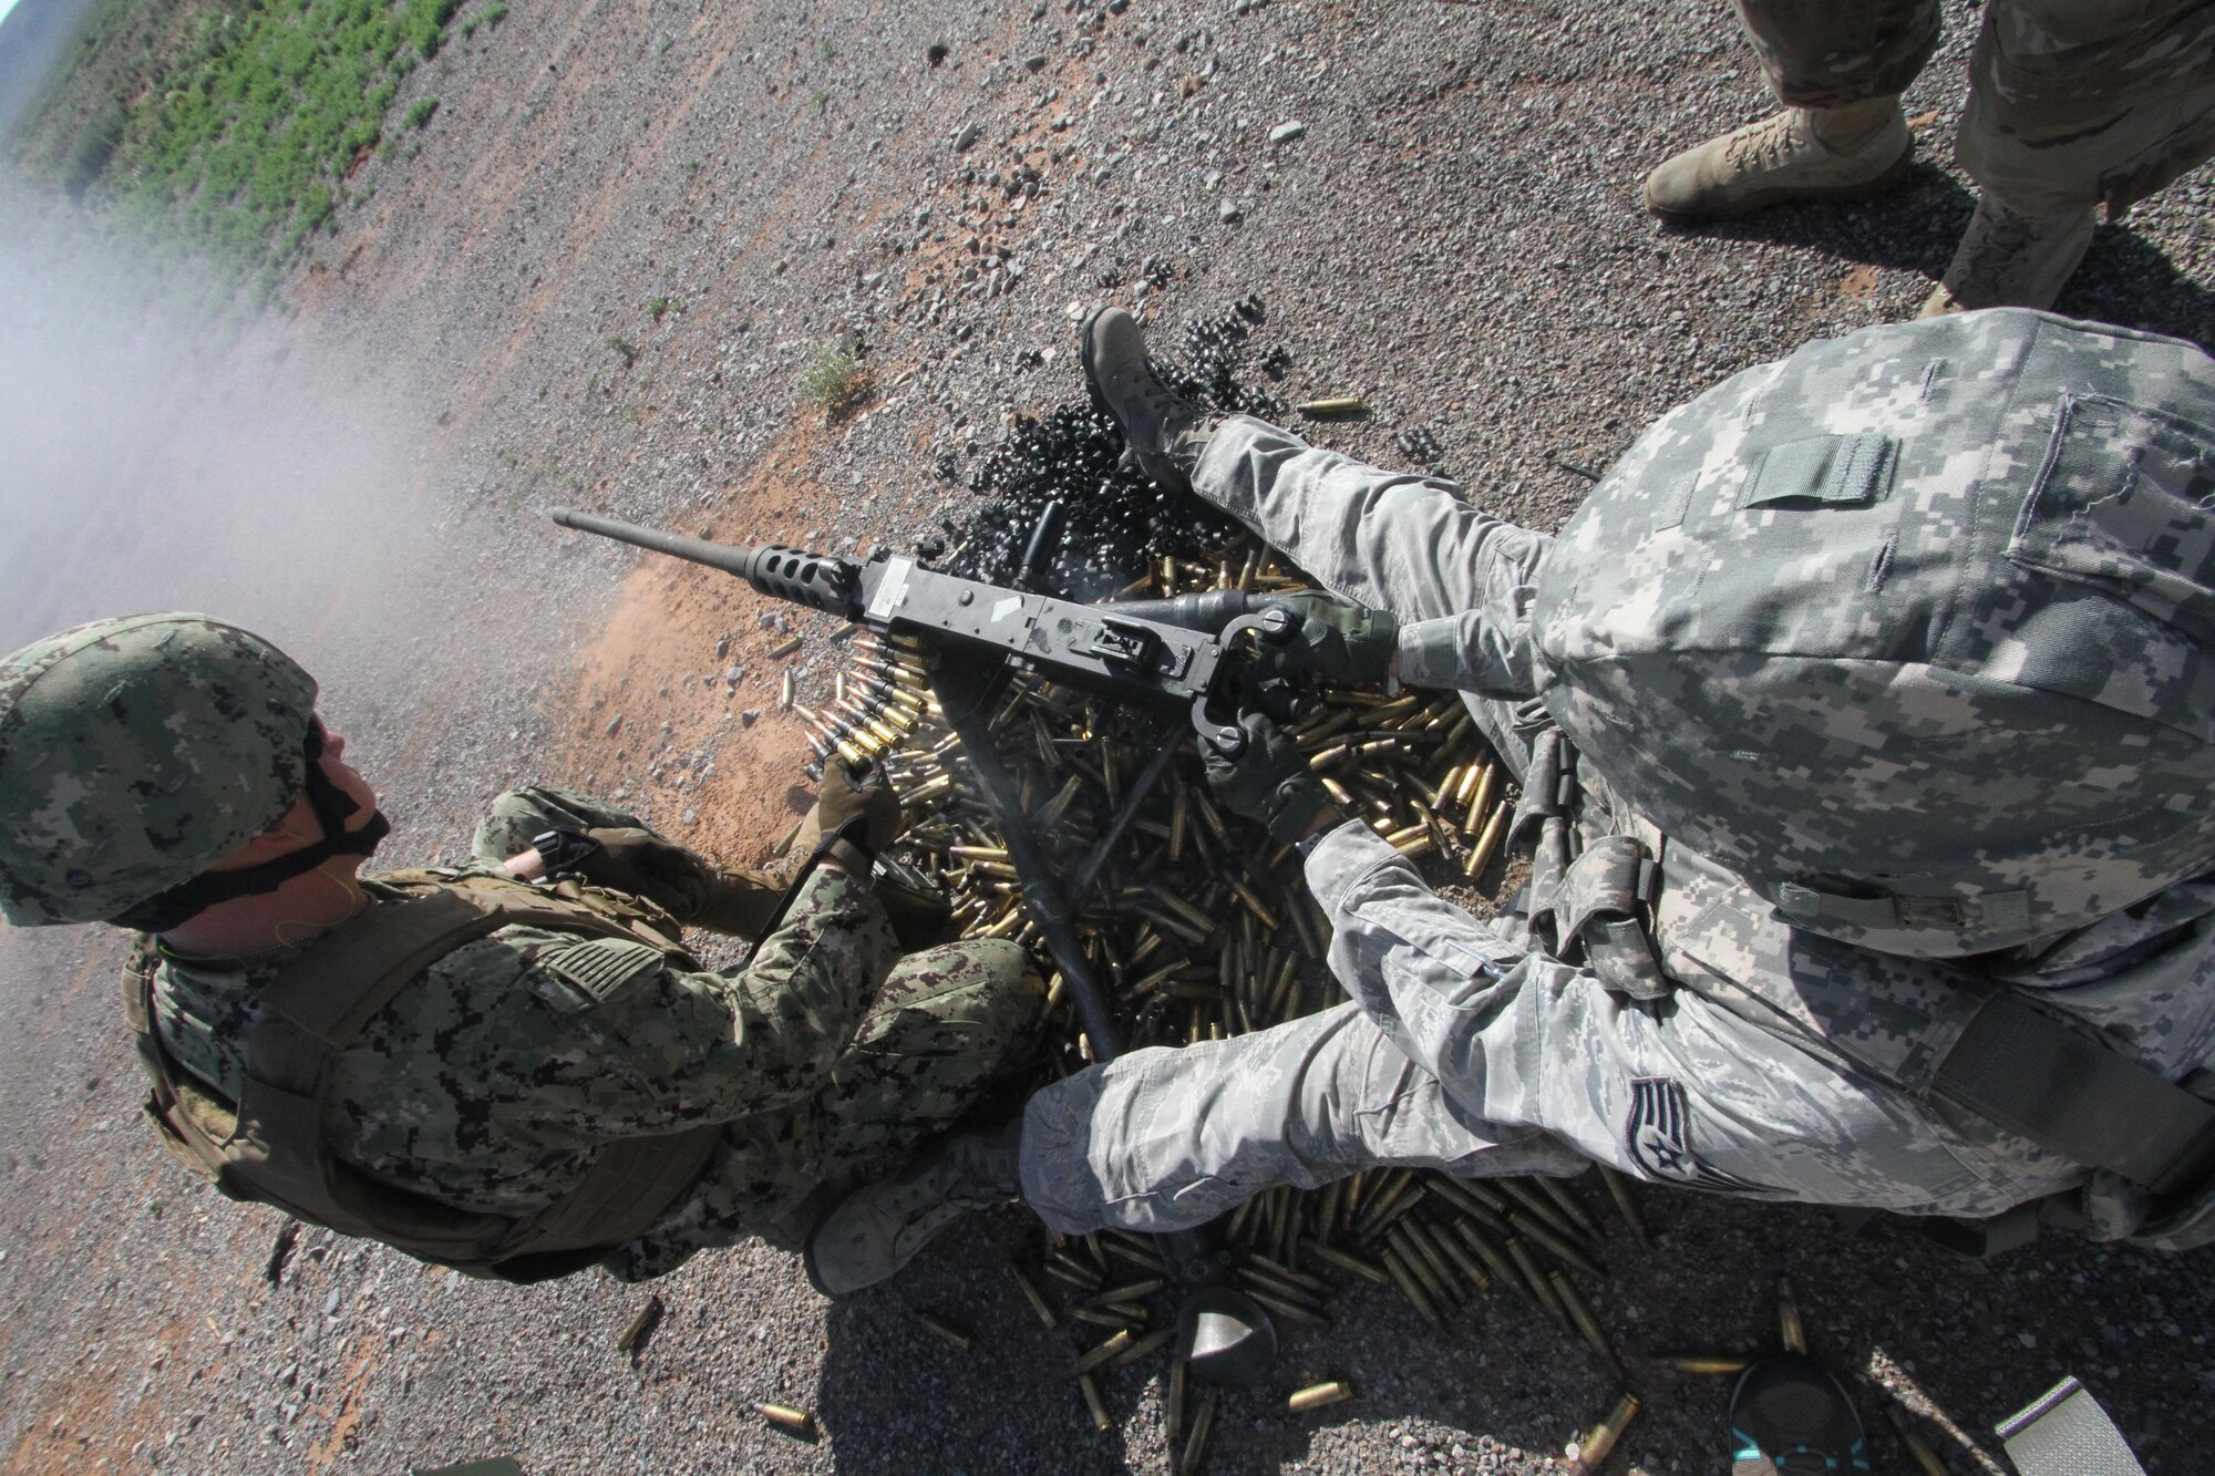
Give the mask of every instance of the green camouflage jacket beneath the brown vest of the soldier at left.
[{"label": "green camouflage jacket beneath the brown vest of the soldier at left", "polygon": [[[401,900],[374,878],[363,886],[374,906]],[[164,951],[155,1019],[171,1055],[237,1099],[255,991],[295,953]],[[893,960],[884,909],[833,871],[808,878],[744,973],[505,926],[425,968],[368,1024],[339,1057],[326,1132],[372,1177],[527,1214],[571,1190],[611,1139],[724,1124],[693,1190],[625,1257],[653,1274],[693,1248],[687,1226],[744,1217],[755,1183],[782,1188],[786,1161],[806,1157],[782,1110],[824,1086]]]}]

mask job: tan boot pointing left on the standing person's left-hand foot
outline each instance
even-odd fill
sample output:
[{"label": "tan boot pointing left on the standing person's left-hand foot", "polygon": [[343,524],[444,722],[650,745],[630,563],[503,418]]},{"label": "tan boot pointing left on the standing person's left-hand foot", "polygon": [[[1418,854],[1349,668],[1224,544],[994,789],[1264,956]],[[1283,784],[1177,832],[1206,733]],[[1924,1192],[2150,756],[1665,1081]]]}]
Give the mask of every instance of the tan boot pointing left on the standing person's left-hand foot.
[{"label": "tan boot pointing left on the standing person's left-hand foot", "polygon": [[1858,199],[1905,175],[1914,153],[1898,98],[1785,109],[1663,160],[1646,175],[1646,208],[1694,222],[1785,199]]}]

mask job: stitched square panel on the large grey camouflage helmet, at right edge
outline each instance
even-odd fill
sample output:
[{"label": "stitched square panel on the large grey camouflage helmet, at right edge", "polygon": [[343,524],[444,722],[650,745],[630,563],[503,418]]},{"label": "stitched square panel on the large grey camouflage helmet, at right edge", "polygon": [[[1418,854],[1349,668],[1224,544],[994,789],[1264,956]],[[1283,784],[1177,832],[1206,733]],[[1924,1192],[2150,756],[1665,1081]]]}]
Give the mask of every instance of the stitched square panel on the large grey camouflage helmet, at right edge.
[{"label": "stitched square panel on the large grey camouflage helmet, at right edge", "polygon": [[2064,394],[2007,556],[2215,640],[2215,430]]}]

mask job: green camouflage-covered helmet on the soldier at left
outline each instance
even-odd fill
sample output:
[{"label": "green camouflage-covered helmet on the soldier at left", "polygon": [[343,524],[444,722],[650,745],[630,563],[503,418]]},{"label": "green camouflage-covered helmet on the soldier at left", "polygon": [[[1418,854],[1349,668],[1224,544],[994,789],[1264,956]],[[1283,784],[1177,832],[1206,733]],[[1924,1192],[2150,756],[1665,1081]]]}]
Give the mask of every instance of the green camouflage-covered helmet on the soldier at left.
[{"label": "green camouflage-covered helmet on the soldier at left", "polygon": [[197,614],[95,621],[0,660],[0,915],[102,922],[301,796],[315,678]]}]

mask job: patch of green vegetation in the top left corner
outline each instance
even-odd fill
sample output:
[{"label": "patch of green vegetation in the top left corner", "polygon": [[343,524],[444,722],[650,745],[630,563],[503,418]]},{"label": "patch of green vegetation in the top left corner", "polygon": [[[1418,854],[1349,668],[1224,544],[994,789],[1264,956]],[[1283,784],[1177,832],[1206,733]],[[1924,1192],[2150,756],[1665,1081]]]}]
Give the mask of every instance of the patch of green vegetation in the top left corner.
[{"label": "patch of green vegetation in the top left corner", "polygon": [[[151,257],[259,268],[268,286],[390,144],[408,73],[439,55],[463,0],[219,4],[111,0],[11,153]],[[505,13],[492,4],[463,33]],[[421,98],[399,129],[436,111]]]}]

